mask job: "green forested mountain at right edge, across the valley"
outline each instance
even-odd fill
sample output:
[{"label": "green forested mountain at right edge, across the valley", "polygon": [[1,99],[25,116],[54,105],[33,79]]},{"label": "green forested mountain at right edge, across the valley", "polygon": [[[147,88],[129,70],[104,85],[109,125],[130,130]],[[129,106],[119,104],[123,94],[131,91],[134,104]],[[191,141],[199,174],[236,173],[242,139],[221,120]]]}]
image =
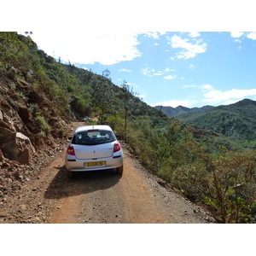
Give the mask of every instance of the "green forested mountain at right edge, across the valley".
[{"label": "green forested mountain at right edge, across the valley", "polygon": [[256,102],[242,100],[199,113],[183,113],[177,119],[232,139],[256,140]]}]

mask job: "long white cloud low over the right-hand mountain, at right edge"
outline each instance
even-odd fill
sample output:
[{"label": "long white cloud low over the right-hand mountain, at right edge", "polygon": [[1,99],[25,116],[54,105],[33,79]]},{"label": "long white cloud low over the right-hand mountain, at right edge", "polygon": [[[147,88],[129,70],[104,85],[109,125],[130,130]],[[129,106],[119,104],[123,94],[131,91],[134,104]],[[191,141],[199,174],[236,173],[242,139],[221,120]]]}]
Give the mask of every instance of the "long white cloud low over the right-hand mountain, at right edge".
[{"label": "long white cloud low over the right-hand mountain, at right edge", "polygon": [[250,89],[250,90],[232,89],[227,91],[209,90],[203,96],[205,96],[205,99],[203,100],[203,102],[211,102],[211,103],[230,102],[230,101],[236,102],[243,98],[246,98],[247,96],[256,96],[256,89]]}]

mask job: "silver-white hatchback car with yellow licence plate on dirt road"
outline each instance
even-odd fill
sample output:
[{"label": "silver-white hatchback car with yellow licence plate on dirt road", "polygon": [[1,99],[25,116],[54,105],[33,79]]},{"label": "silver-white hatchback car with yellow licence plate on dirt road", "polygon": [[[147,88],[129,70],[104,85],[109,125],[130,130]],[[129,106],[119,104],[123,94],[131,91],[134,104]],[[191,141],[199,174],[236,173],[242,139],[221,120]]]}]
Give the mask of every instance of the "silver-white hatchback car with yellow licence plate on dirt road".
[{"label": "silver-white hatchback car with yellow licence plate on dirt road", "polygon": [[68,176],[74,172],[113,168],[123,173],[123,150],[108,125],[81,126],[69,139],[65,158]]}]

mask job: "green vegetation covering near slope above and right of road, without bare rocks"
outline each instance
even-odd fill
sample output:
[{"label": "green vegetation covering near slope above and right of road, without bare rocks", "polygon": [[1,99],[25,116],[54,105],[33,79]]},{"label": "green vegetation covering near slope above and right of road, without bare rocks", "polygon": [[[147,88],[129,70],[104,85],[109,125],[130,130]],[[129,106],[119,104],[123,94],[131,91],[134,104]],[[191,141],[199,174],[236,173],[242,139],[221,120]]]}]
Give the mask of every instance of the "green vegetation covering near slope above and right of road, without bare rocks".
[{"label": "green vegetation covering near slope above and right of road, without bare rocks", "polygon": [[[61,58],[55,60],[38,49],[29,36],[15,32],[0,32],[0,73],[13,79],[9,84],[13,90],[15,83],[25,80],[34,90],[43,91],[68,120],[89,116],[111,125],[143,166],[189,200],[207,207],[218,222],[256,223],[256,151],[250,144],[256,136],[240,143],[245,136],[240,127],[232,139],[218,130],[209,132],[207,126],[207,131],[195,131],[148,106],[127,82],[113,84],[108,70],[100,75],[63,64]],[[26,90],[19,95],[38,123],[38,136],[47,138],[54,112],[38,109],[26,98]],[[234,131],[236,123],[234,117],[226,127],[232,125]],[[60,133],[62,137],[65,132]]]}]

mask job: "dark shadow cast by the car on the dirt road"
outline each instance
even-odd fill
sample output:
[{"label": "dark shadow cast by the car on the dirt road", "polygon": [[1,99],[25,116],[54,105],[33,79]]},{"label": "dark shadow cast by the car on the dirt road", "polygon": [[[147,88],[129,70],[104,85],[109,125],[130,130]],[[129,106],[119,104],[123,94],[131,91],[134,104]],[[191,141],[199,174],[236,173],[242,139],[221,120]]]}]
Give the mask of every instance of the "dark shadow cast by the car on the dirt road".
[{"label": "dark shadow cast by the car on the dirt road", "polygon": [[96,190],[109,189],[118,183],[121,177],[115,170],[111,169],[76,172],[74,177],[68,178],[64,166],[58,169],[59,172],[57,172],[44,193],[46,199],[61,199],[68,196],[89,194]]}]

